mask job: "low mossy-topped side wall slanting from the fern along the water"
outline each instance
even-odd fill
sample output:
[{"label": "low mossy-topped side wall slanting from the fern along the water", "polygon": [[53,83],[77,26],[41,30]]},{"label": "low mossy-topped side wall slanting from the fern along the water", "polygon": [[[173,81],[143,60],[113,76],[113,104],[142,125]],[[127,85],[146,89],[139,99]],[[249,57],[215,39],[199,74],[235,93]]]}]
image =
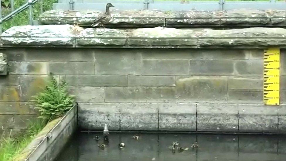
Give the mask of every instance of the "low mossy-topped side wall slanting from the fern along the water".
[{"label": "low mossy-topped side wall slanting from the fern along the water", "polygon": [[62,118],[49,122],[13,161],[54,160],[76,129],[77,105],[74,105]]}]

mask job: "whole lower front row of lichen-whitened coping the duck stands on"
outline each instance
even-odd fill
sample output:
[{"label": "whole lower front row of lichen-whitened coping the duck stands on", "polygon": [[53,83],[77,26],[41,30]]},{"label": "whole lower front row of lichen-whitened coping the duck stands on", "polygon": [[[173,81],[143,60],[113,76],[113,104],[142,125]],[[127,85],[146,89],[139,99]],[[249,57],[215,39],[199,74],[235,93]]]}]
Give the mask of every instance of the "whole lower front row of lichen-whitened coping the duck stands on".
[{"label": "whole lower front row of lichen-whitened coping the duck stands on", "polygon": [[286,48],[284,28],[231,30],[86,28],[72,25],[14,26],[1,35],[1,47],[67,48]]}]

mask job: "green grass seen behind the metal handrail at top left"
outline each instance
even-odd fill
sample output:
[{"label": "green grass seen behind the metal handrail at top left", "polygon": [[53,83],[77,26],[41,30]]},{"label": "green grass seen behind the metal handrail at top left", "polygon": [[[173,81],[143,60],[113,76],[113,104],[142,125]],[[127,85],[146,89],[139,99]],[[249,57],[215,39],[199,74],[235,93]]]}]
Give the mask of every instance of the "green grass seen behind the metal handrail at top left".
[{"label": "green grass seen behind the metal handrail at top left", "polygon": [[[14,8],[17,9],[23,4],[25,4],[26,0],[15,0],[14,1]],[[43,4],[43,11],[48,11],[52,9],[52,4],[56,3],[57,0],[42,0]],[[7,15],[11,12],[10,8],[3,8],[2,14]],[[38,19],[40,15],[40,1],[38,1],[36,4],[33,5],[33,19]],[[21,26],[21,25],[28,25],[29,23],[29,9],[26,9],[25,11],[17,14],[10,20],[3,23],[3,30],[7,30],[8,28],[11,28],[12,26]]]}]

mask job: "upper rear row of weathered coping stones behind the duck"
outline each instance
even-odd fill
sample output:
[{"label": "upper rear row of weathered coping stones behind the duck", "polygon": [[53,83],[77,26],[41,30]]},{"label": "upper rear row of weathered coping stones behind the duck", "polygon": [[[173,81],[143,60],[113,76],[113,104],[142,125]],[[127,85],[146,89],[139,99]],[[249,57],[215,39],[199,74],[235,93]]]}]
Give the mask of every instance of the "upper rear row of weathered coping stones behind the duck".
[{"label": "upper rear row of weathered coping stones behind the duck", "polygon": [[[46,11],[42,24],[90,26],[98,11]],[[229,11],[112,11],[110,27],[285,27],[286,10],[234,9]]]}]

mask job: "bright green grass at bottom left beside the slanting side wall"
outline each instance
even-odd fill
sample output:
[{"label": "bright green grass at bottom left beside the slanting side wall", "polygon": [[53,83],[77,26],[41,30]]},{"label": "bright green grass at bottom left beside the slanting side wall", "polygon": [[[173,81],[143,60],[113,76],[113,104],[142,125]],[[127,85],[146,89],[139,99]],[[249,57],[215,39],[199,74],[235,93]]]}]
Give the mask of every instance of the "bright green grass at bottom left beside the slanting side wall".
[{"label": "bright green grass at bottom left beside the slanting side wall", "polygon": [[35,138],[45,125],[46,121],[38,120],[31,123],[26,131],[21,131],[11,138],[0,140],[0,161],[11,161]]}]

